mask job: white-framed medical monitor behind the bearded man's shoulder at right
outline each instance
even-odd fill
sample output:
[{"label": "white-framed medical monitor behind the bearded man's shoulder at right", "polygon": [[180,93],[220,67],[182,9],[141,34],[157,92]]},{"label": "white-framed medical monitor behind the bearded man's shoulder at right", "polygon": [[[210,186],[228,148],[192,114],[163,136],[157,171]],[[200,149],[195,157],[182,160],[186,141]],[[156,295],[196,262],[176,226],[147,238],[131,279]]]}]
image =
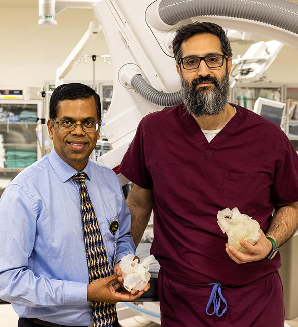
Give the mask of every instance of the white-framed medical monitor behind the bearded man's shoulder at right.
[{"label": "white-framed medical monitor behind the bearded man's shoulder at right", "polygon": [[281,126],[284,121],[285,103],[260,97],[255,102],[254,112]]}]

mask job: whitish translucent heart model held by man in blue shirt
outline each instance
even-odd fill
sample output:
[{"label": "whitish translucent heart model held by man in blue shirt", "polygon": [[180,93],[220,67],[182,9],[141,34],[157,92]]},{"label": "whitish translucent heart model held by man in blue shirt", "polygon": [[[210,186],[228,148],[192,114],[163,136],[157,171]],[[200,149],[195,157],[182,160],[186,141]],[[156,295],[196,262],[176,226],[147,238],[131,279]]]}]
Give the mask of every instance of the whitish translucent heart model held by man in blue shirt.
[{"label": "whitish translucent heart model held by man in blue shirt", "polygon": [[142,291],[150,279],[149,265],[155,261],[153,255],[145,258],[140,264],[134,255],[129,254],[120,261],[120,269],[124,278],[124,287],[127,291],[132,289]]}]

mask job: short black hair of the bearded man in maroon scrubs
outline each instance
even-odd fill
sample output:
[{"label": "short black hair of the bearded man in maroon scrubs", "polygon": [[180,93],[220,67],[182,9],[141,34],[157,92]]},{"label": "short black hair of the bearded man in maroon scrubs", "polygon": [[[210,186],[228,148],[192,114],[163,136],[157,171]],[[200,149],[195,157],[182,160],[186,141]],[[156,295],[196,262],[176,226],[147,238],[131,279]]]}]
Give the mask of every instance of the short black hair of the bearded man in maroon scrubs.
[{"label": "short black hair of the bearded man in maroon scrubs", "polygon": [[232,57],[232,49],[230,41],[227,38],[226,32],[223,28],[215,23],[210,22],[194,22],[183,25],[176,31],[173,39],[173,53],[176,63],[179,64],[182,58],[181,44],[184,40],[196,34],[210,33],[216,35],[221,43],[221,50],[227,57]]}]

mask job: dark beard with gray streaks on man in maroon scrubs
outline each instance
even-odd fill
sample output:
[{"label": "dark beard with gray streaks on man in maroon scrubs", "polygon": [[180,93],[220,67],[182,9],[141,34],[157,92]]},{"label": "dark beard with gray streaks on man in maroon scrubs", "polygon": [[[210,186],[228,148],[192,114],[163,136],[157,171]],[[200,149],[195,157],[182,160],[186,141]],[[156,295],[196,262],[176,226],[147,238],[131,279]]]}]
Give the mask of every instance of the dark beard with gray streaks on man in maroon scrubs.
[{"label": "dark beard with gray streaks on man in maroon scrubs", "polygon": [[[196,88],[197,83],[202,81],[211,81],[212,87]],[[230,93],[229,74],[226,71],[225,76],[218,82],[217,78],[207,75],[206,77],[195,78],[191,84],[181,75],[181,92],[186,110],[195,117],[215,116],[223,111],[228,103]]]}]

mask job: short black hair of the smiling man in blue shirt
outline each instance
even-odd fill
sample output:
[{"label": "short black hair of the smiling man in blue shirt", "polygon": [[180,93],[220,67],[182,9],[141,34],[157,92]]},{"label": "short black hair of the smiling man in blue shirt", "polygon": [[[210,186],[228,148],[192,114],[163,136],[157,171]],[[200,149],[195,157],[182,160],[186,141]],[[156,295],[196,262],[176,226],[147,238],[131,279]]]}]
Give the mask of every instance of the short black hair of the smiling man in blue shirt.
[{"label": "short black hair of the smiling man in blue shirt", "polygon": [[59,102],[63,100],[77,100],[94,97],[97,119],[101,119],[101,104],[99,95],[88,85],[82,83],[66,83],[58,86],[50,99],[50,119],[58,116]]}]

